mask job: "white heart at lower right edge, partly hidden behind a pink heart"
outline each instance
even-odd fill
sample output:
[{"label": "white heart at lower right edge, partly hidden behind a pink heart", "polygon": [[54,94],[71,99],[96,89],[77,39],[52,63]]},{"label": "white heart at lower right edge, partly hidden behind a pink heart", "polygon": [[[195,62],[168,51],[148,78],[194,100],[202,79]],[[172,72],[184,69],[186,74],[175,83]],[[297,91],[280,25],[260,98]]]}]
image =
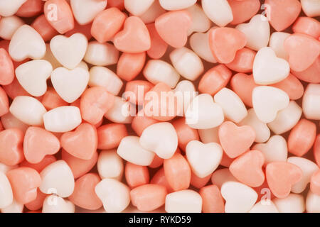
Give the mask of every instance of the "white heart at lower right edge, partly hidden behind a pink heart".
[{"label": "white heart at lower right edge, partly hidden behind a pink heart", "polygon": [[288,157],[288,162],[297,165],[302,170],[302,179],[292,185],[291,192],[302,193],[306,189],[306,185],[309,184],[311,176],[319,170],[319,167],[316,163],[304,157]]}]

